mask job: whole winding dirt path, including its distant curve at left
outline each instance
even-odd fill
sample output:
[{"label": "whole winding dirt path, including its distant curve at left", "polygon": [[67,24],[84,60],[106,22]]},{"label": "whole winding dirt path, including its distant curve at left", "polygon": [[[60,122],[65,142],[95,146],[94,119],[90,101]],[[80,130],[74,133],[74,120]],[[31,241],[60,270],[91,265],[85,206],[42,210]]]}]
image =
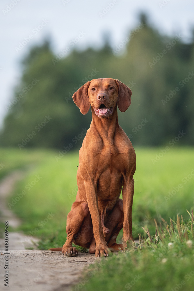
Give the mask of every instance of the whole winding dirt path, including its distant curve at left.
[{"label": "whole winding dirt path, including its distant curve at left", "polygon": [[[6,198],[10,195],[15,183],[22,179],[22,172],[14,172],[0,183],[1,222],[9,221],[13,228],[19,226],[19,219],[8,209]],[[9,233],[9,251],[4,251],[4,238],[0,239],[0,290],[10,291],[65,291],[71,290],[79,283],[84,268],[96,260],[95,255],[79,253],[78,257],[64,257],[61,252],[26,250],[35,248],[38,239],[33,242],[23,233]],[[8,254],[9,253],[9,254]],[[9,289],[4,286],[6,256],[9,262]],[[80,289],[81,289],[80,283]],[[73,288],[74,290],[74,288]]]}]

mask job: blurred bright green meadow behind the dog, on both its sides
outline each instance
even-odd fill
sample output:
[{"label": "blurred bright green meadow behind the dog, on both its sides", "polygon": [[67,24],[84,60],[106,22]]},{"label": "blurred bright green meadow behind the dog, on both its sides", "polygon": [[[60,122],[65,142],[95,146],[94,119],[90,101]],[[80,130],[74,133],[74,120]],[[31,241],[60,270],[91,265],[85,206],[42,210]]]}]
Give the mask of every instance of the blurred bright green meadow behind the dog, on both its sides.
[{"label": "blurred bright green meadow behind the dog, on both its sides", "polygon": [[[137,168],[132,221],[134,238],[138,238],[138,233],[143,234],[142,226],[154,233],[154,218],[159,221],[162,216],[169,222],[169,217],[175,219],[177,213],[189,218],[186,209],[191,212],[193,207],[194,176],[191,172],[194,152],[193,148],[172,148],[153,164],[152,159],[159,154],[159,148],[135,150]],[[18,183],[9,200],[10,208],[23,221],[21,229],[27,235],[40,237],[42,249],[62,246],[66,238],[67,213],[76,197],[78,152],[70,152],[58,161],[56,151],[1,152],[4,164],[11,165],[11,170],[22,168],[26,172],[26,178]],[[36,176],[39,177],[37,182]],[[180,189],[177,188],[179,184],[182,184]],[[178,191],[169,198],[173,187]],[[22,191],[26,192],[23,197]],[[19,195],[22,198],[18,198]],[[13,199],[19,201],[13,205]],[[118,241],[121,239],[122,231]]]}]

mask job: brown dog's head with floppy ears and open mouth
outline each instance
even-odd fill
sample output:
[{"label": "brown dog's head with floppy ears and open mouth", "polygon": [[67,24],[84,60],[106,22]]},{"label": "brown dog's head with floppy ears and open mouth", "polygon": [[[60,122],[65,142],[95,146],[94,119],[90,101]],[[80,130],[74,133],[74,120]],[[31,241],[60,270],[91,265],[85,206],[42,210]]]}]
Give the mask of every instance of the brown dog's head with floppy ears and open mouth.
[{"label": "brown dog's head with floppy ears and open mouth", "polygon": [[118,106],[121,112],[131,104],[131,90],[119,80],[93,79],[74,93],[74,103],[82,114],[88,113],[90,105],[99,118],[109,118]]}]

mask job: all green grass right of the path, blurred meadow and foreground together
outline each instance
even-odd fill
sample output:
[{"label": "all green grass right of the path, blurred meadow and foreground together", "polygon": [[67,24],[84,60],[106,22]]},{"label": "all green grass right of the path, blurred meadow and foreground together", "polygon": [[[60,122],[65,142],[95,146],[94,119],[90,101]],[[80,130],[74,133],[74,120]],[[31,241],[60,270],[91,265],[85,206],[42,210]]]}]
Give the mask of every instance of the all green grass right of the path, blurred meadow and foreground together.
[{"label": "all green grass right of the path, blurred meadow and foreground together", "polygon": [[[75,288],[193,290],[194,243],[191,247],[186,243],[187,239],[193,242],[191,217],[186,211],[191,213],[194,203],[193,148],[171,148],[154,163],[152,160],[159,155],[160,148],[135,150],[137,169],[134,175],[132,222],[134,238],[139,238],[138,233],[145,237],[141,249],[137,244],[131,245],[129,251],[102,259],[100,264],[90,267],[90,272],[81,280],[82,285]],[[40,249],[62,246],[66,239],[67,213],[76,197],[78,152],[69,152],[58,162],[55,159],[57,151],[0,149],[0,153],[6,165],[1,169],[0,177],[18,168],[26,174],[8,201],[10,208],[22,219],[19,229],[31,239],[39,237]],[[22,191],[26,194],[22,194]],[[166,223],[161,221],[161,217],[168,223],[170,217],[177,221],[177,214],[183,214],[185,219],[180,226],[180,236],[176,223],[175,233],[170,231],[170,227],[168,233]],[[161,238],[159,231],[154,236],[154,219],[159,225]],[[152,243],[142,227],[149,229]],[[122,231],[118,242],[121,239]],[[169,247],[169,242],[173,243],[172,247]]]}]

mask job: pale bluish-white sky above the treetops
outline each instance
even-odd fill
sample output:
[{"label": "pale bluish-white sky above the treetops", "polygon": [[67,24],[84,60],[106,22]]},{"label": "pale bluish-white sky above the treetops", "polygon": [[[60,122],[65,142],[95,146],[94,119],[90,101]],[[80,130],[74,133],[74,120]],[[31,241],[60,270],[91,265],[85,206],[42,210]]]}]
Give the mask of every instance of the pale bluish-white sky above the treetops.
[{"label": "pale bluish-white sky above the treetops", "polygon": [[0,127],[31,47],[48,37],[56,55],[73,43],[77,49],[101,47],[106,33],[114,49],[138,27],[142,12],[161,34],[181,33],[191,42],[193,0],[1,0]]}]

